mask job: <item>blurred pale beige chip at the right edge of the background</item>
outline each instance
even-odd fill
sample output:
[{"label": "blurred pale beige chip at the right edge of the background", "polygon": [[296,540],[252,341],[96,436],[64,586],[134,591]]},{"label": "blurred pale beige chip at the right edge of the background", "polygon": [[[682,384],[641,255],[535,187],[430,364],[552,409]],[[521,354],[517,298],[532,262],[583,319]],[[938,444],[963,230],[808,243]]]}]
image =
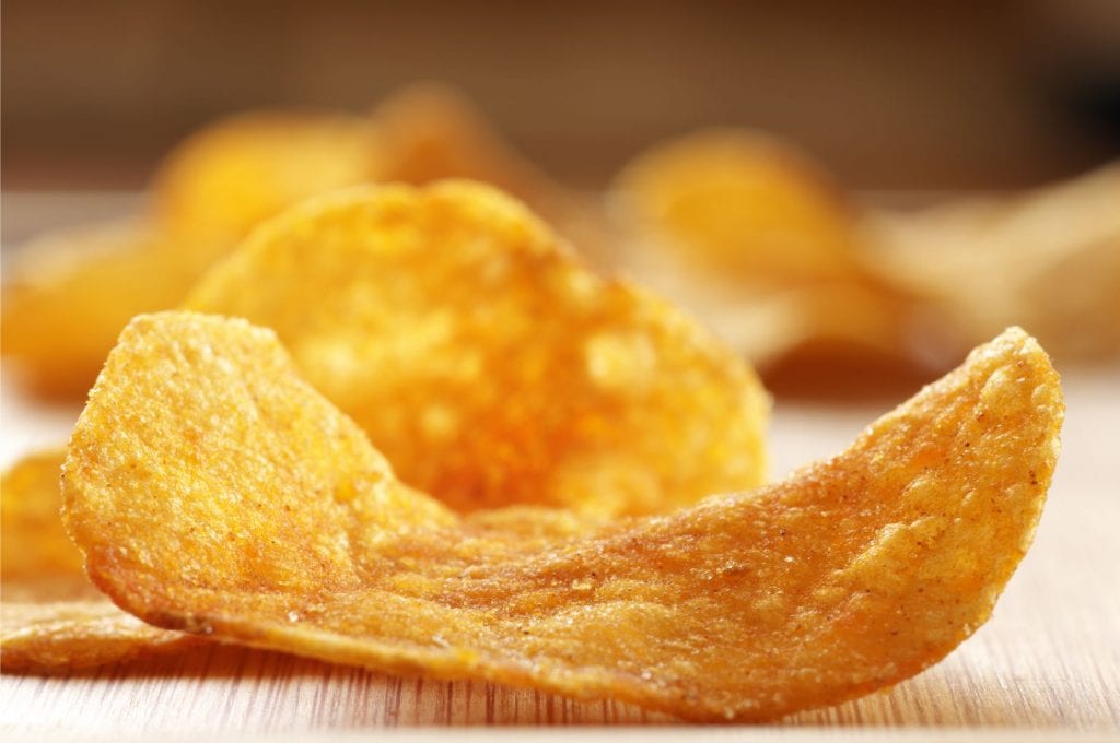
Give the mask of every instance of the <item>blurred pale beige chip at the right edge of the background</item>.
[{"label": "blurred pale beige chip at the right edge of the background", "polygon": [[869,216],[881,275],[958,348],[1017,323],[1055,354],[1120,352],[1120,163],[1015,197]]}]

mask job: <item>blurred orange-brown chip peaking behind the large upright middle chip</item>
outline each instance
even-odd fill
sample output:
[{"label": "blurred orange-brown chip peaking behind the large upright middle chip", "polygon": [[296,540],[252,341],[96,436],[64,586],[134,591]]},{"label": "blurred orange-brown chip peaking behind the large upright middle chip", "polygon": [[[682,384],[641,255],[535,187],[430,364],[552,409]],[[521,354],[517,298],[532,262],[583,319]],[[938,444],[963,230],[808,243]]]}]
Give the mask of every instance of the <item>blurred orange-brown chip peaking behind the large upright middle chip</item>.
[{"label": "blurred orange-brown chip peaking behind the large upright middle chip", "polygon": [[617,260],[604,210],[564,188],[506,143],[454,88],[417,84],[389,96],[373,114],[381,158],[373,180],[423,186],[468,178],[496,186],[533,209],[600,267]]}]

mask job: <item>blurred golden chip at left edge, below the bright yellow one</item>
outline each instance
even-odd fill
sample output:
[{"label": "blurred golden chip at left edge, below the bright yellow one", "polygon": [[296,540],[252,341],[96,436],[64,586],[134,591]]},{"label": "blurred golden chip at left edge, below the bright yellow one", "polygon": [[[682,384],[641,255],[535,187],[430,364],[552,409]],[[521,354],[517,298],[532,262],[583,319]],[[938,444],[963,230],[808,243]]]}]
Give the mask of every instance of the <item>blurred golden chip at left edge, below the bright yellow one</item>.
[{"label": "blurred golden chip at left edge, below the bright yellow one", "polygon": [[44,235],[13,256],[3,355],[38,392],[84,398],[132,316],[178,304],[205,266],[146,222]]}]

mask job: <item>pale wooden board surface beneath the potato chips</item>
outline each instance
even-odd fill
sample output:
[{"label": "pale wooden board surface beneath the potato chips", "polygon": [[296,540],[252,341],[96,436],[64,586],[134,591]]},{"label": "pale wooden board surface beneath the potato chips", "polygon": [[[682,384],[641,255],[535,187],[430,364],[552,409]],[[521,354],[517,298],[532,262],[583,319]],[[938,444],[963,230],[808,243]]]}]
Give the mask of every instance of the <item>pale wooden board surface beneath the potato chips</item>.
[{"label": "pale wooden board surface beneath the potato chips", "polygon": [[[1094,740],[1114,740],[1120,731],[1120,367],[1060,370],[1068,413],[1055,482],[1035,545],[992,620],[943,662],[893,689],[794,716],[786,726],[740,733],[808,740],[805,725],[850,732],[900,725],[911,727],[907,739],[928,740],[944,737],[946,726],[979,726],[986,737],[998,740],[1021,740],[1014,733],[1029,728],[1044,728],[1058,740],[1089,731],[1096,731]],[[11,374],[0,385],[0,464],[65,439],[76,411],[29,403]],[[836,453],[897,402],[778,399],[773,473]],[[388,677],[218,646],[73,676],[0,677],[0,735],[115,737],[162,731],[239,737],[384,726],[664,722],[671,721],[613,702]],[[606,737],[592,730],[573,734]],[[673,739],[664,730],[660,735]],[[719,733],[729,735],[727,728]],[[408,737],[476,736],[477,731],[458,728]]]}]

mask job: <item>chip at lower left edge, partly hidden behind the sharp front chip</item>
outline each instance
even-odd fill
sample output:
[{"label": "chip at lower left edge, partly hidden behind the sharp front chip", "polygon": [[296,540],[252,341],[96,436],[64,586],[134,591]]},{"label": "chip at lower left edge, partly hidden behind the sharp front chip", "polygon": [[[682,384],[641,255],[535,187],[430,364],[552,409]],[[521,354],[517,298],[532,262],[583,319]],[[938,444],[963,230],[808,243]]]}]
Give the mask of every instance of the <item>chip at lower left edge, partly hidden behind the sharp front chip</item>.
[{"label": "chip at lower left edge, partly hidden behind the sharp front chip", "polygon": [[85,668],[203,642],[146,624],[93,587],[58,512],[64,458],[28,457],[0,483],[0,668]]}]

